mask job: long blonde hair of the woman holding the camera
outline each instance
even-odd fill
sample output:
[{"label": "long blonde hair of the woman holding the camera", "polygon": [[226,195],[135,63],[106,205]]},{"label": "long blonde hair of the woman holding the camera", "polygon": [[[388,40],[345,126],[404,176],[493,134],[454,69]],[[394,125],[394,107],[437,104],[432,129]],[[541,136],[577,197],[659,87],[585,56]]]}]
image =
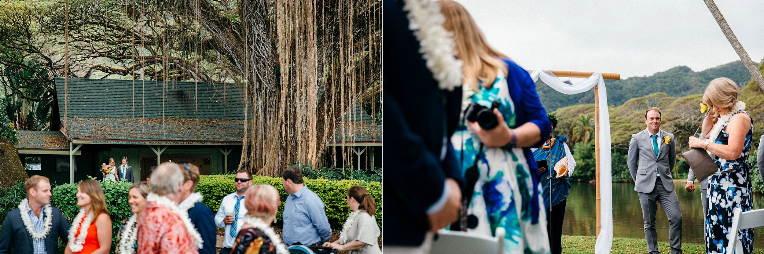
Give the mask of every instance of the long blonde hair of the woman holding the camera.
[{"label": "long blonde hair of the woman holding the camera", "polygon": [[463,63],[464,85],[470,85],[472,89],[478,90],[478,80],[480,80],[483,86],[488,88],[494,85],[499,70],[506,76],[507,64],[501,58],[509,59],[509,57],[488,45],[480,28],[464,6],[451,0],[437,2],[445,16],[443,27],[454,35],[456,57]]}]

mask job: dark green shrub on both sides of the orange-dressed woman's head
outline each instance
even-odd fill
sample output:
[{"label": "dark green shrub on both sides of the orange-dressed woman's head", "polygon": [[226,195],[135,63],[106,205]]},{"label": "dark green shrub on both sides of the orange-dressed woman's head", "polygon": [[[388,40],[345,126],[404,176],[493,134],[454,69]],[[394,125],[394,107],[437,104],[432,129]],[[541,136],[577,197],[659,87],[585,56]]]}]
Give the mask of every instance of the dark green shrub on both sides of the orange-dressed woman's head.
[{"label": "dark green shrub on both sides of the orange-dressed woman's head", "polygon": [[[115,249],[117,242],[117,235],[120,227],[122,227],[122,221],[130,217],[130,204],[128,204],[128,191],[132,186],[131,182],[101,182],[101,188],[103,188],[103,194],[106,198],[106,208],[108,209],[108,215],[112,219],[112,250]],[[57,185],[53,190],[53,196],[50,197],[50,204],[53,207],[57,207],[63,217],[69,221],[70,225],[74,217],[79,213],[79,207],[77,206],[77,184],[62,184]],[[66,244],[66,243],[64,243]]]}]

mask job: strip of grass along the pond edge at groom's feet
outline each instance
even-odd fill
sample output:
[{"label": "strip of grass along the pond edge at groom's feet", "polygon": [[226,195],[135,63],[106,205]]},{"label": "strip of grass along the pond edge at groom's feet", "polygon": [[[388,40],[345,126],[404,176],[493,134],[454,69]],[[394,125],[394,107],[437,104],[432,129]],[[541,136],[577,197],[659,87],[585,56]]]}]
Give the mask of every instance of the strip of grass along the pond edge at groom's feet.
[{"label": "strip of grass along the pond edge at groom's feet", "polygon": [[[594,252],[594,244],[597,243],[597,238],[594,236],[562,236],[562,252],[563,253],[587,253]],[[669,254],[669,243],[658,242],[658,249],[660,252]],[[701,244],[682,243],[682,252],[685,254],[705,253],[706,246]],[[633,253],[647,253],[647,245],[644,239],[636,238],[613,238],[613,248],[610,249],[612,254],[633,254]],[[753,249],[753,253],[764,254],[764,249]]]}]

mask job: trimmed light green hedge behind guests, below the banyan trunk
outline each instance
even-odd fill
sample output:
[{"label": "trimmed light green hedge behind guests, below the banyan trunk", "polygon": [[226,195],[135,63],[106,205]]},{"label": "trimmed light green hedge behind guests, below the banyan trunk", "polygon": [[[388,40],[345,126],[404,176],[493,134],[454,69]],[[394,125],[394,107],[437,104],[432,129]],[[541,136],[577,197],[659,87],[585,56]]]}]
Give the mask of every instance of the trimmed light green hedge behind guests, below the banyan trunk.
[{"label": "trimmed light green hedge behind guests, below the banyan trunk", "polygon": [[[276,217],[277,221],[282,220],[281,212],[283,211],[283,204],[286,201],[286,197],[289,194],[284,191],[281,178],[273,178],[267,176],[255,175],[252,179],[252,184],[268,184],[273,185],[281,194],[281,206]],[[329,181],[327,179],[305,179],[305,184],[308,188],[316,192],[322,201],[326,209],[326,217],[329,218],[329,224],[333,229],[342,229],[342,224],[345,223],[345,219],[348,218],[350,213],[350,207],[348,207],[347,195],[348,189],[353,185],[361,185],[367,188],[369,194],[374,197],[374,201],[377,201],[377,212],[375,218],[377,224],[381,225],[382,218],[382,185],[379,182],[364,182],[358,180],[341,180],[341,181]],[[236,191],[234,185],[234,175],[202,175],[199,178],[199,186],[196,187],[196,191],[199,191],[204,197],[202,203],[204,203],[213,213],[217,212],[220,208],[220,203],[225,197]]]}]

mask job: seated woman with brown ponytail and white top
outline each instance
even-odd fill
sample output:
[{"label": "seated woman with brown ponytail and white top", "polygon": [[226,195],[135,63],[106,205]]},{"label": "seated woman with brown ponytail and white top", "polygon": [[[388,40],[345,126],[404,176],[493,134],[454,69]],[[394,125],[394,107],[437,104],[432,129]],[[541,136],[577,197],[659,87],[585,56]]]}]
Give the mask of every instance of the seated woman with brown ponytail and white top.
[{"label": "seated woman with brown ponytail and white top", "polygon": [[345,220],[345,224],[342,225],[339,239],[332,243],[326,242],[323,246],[345,250],[349,254],[382,253],[377,244],[380,227],[374,219],[377,202],[369,195],[366,188],[354,185],[348,190],[348,206],[351,212],[348,220]]}]

